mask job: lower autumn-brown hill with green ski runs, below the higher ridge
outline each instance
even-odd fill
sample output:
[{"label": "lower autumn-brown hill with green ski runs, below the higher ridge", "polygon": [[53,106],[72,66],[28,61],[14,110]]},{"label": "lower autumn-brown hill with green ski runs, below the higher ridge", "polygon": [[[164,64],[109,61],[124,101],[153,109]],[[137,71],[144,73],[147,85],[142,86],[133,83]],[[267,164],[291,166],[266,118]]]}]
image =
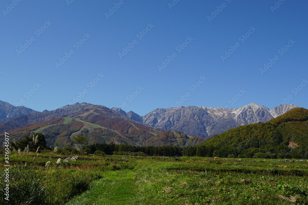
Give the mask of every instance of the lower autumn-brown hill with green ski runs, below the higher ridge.
[{"label": "lower autumn-brown hill with green ski runs, below the higher ridge", "polygon": [[[110,114],[110,113],[109,113]],[[187,136],[182,132],[160,132],[134,121],[125,121],[116,116],[106,119],[102,115],[84,117],[64,117],[36,124],[28,124],[8,131],[10,139],[18,140],[23,136],[32,136],[36,132],[43,133],[48,146],[71,146],[71,136],[86,136],[89,144],[130,144],[135,146],[195,146],[202,144],[205,139]],[[87,121],[84,121],[87,120]],[[94,123],[91,123],[93,121]],[[2,141],[3,141],[3,137]]]}]

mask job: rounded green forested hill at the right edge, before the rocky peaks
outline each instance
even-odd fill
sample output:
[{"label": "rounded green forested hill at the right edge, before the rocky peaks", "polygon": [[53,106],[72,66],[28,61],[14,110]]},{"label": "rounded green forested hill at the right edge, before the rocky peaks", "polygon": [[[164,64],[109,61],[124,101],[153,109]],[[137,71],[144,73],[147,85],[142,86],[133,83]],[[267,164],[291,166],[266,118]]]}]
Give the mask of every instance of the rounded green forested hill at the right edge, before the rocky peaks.
[{"label": "rounded green forested hill at the right edge, before the rocky peaks", "polygon": [[221,157],[264,157],[267,153],[274,158],[308,158],[307,145],[308,110],[294,108],[266,123],[243,125],[213,136],[203,149],[212,146],[216,149],[213,155]]}]

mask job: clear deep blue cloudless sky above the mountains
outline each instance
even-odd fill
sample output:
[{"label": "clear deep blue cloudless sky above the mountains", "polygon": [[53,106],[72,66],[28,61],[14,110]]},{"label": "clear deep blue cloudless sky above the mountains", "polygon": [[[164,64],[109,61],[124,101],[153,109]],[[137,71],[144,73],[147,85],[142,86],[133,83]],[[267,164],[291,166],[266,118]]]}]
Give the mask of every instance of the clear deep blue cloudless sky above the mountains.
[{"label": "clear deep blue cloudless sky above the mountains", "polygon": [[188,105],[308,108],[307,7],[2,0],[0,100],[37,111],[87,102],[141,116]]}]

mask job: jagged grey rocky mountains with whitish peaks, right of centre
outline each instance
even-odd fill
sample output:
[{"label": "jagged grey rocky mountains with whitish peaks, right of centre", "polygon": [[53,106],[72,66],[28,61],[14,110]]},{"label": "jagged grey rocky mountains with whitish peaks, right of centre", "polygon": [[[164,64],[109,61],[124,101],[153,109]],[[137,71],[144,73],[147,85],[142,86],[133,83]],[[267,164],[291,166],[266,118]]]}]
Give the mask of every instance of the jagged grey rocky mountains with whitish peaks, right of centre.
[{"label": "jagged grey rocky mountains with whitish peaks, right of centre", "polygon": [[297,106],[279,105],[270,110],[255,103],[241,108],[178,107],[158,108],[143,116],[143,123],[160,130],[178,130],[209,138],[245,124],[267,122]]}]

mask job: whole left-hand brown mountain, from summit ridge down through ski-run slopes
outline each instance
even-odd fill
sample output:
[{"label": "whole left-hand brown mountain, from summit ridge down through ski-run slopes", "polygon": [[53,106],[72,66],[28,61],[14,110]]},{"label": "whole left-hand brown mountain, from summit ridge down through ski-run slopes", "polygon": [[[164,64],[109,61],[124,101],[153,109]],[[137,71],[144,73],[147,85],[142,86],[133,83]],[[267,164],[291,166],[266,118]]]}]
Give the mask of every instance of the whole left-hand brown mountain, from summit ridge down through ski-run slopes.
[{"label": "whole left-hand brown mountain, from summit ridge down through ski-run slopes", "polygon": [[[189,136],[183,132],[162,132],[132,120],[120,110],[118,112],[102,105],[88,103],[75,103],[53,111],[10,118],[0,124],[0,133],[4,132],[10,133],[10,138],[15,140],[40,132],[45,135],[48,146],[58,147],[71,146],[70,138],[76,135],[86,136],[90,144],[185,147],[200,145],[205,141],[201,137]],[[4,137],[1,138],[3,141]]]}]

